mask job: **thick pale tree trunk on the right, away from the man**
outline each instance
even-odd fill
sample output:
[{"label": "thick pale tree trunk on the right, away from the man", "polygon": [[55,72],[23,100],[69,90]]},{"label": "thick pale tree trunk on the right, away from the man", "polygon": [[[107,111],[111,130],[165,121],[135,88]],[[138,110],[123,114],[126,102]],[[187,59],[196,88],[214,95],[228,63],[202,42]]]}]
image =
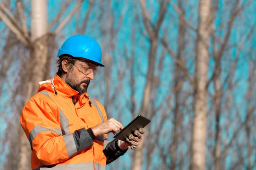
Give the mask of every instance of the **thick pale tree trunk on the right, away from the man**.
[{"label": "thick pale tree trunk on the right, away from the man", "polygon": [[195,59],[194,123],[191,141],[191,170],[206,166],[207,137],[207,73],[209,64],[209,16],[211,0],[200,0],[197,55]]}]

